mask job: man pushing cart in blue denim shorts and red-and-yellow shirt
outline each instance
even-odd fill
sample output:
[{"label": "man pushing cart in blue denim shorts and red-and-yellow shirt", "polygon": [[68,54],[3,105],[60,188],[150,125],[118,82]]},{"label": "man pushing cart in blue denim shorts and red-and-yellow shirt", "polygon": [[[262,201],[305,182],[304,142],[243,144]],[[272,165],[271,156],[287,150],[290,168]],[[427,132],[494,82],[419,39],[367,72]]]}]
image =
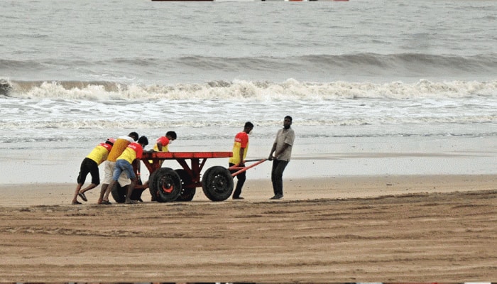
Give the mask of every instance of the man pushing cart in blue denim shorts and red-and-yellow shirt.
[{"label": "man pushing cart in blue denim shorts and red-and-yellow shirt", "polygon": [[112,181],[107,187],[107,190],[104,195],[104,199],[102,203],[109,204],[109,194],[111,192],[112,187],[116,184],[121,176],[121,173],[125,173],[127,177],[131,180],[131,185],[128,187],[128,191],[126,192],[126,200],[124,203],[126,204],[134,204],[136,203],[134,200],[131,200],[131,193],[135,188],[136,183],[138,182],[138,178],[135,175],[135,171],[133,170],[133,163],[135,160],[140,161],[143,155],[143,148],[148,145],[148,139],[146,136],[141,136],[138,139],[138,142],[130,143],[126,149],[124,149],[123,153],[119,155],[116,159],[116,166],[114,168],[114,174],[112,175]]}]

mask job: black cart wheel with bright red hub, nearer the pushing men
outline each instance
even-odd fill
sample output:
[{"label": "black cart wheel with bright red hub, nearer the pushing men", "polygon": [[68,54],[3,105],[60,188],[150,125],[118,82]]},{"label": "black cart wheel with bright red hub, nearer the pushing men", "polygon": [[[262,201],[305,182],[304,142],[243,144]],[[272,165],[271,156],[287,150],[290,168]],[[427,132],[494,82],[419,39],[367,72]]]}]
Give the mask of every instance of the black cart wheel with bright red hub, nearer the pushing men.
[{"label": "black cart wheel with bright red hub, nearer the pushing men", "polygon": [[150,191],[158,202],[172,202],[181,193],[180,176],[172,168],[155,170],[150,179]]}]

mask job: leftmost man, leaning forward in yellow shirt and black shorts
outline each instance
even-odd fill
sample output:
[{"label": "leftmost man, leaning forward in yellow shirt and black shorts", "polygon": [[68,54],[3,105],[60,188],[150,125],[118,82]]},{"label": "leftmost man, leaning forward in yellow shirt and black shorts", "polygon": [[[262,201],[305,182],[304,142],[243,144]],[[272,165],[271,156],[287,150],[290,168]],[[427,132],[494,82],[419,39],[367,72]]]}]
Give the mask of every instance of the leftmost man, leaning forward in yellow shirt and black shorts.
[{"label": "leftmost man, leaning forward in yellow shirt and black shorts", "polygon": [[[116,139],[109,138],[104,143],[100,143],[81,162],[80,175],[77,176],[77,186],[75,195],[72,197],[72,204],[81,204],[81,202],[77,201],[78,195],[83,201],[88,201],[84,192],[92,190],[100,184],[99,165],[104,160],[107,160],[107,155],[109,155],[115,141]],[[81,190],[88,174],[92,175],[92,183]]]}]

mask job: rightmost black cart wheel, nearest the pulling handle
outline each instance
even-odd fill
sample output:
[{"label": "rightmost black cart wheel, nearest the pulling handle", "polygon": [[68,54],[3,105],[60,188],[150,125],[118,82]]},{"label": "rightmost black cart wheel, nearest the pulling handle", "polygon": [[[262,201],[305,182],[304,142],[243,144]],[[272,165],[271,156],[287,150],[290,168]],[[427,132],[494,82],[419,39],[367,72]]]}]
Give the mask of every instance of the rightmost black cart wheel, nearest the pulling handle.
[{"label": "rightmost black cart wheel, nearest the pulling handle", "polygon": [[227,200],[233,192],[231,173],[220,165],[207,169],[202,177],[202,190],[209,200]]}]

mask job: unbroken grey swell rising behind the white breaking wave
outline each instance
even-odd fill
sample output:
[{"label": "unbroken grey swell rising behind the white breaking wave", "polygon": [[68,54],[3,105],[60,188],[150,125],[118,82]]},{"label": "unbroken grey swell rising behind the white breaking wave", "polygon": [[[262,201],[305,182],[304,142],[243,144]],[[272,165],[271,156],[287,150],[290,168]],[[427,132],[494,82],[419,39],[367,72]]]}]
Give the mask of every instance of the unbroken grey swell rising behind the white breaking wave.
[{"label": "unbroken grey swell rising behind the white breaking wave", "polygon": [[[215,57],[188,55],[171,58],[51,58],[26,61],[0,60],[0,75],[14,75],[13,80],[39,79],[171,83],[235,80],[280,82],[329,82],[330,78],[347,81],[376,82],[419,80],[421,78],[494,78],[497,54],[433,55],[425,53],[353,53],[342,55],[304,54],[295,56]],[[391,78],[391,80],[388,80]],[[41,78],[45,80],[46,78]],[[45,80],[50,81],[50,80]]]}]

